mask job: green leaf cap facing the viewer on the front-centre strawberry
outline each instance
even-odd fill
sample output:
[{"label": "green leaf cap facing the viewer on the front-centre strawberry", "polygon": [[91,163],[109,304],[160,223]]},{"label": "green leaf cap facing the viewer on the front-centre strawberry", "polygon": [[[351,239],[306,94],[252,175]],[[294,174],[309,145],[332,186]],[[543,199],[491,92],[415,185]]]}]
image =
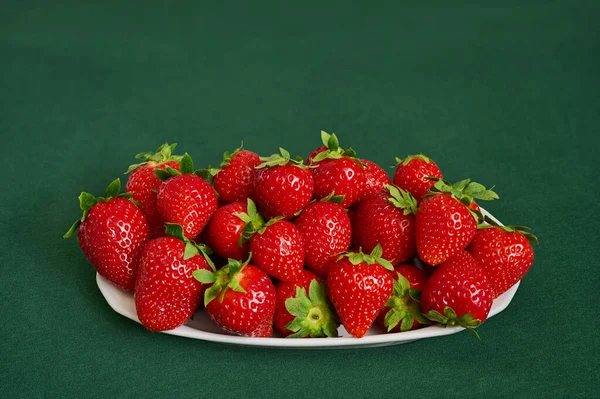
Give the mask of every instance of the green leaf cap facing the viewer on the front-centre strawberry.
[{"label": "green leaf cap facing the viewer on the front-centre strawberry", "polygon": [[313,279],[308,288],[308,296],[304,288],[296,287],[296,296],[286,299],[285,308],[295,316],[285,326],[293,332],[288,338],[338,336],[340,322],[328,303],[325,282],[319,283]]}]

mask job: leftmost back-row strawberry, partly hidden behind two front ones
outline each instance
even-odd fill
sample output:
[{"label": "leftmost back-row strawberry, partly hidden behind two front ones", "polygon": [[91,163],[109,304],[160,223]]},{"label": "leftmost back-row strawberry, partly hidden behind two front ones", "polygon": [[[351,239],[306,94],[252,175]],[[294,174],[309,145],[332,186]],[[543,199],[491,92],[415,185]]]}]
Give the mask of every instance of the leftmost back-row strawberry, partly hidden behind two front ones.
[{"label": "leftmost back-row strawberry, partly hidden behind two front ones", "polygon": [[125,191],[131,192],[133,199],[142,206],[150,227],[150,238],[165,235],[165,224],[156,207],[156,192],[162,181],[154,174],[154,169],[167,169],[167,166],[179,170],[181,156],[172,155],[177,144],[165,143],[158,147],[156,153],[142,152],[135,157],[143,162],[131,165],[127,172],[131,173]]}]

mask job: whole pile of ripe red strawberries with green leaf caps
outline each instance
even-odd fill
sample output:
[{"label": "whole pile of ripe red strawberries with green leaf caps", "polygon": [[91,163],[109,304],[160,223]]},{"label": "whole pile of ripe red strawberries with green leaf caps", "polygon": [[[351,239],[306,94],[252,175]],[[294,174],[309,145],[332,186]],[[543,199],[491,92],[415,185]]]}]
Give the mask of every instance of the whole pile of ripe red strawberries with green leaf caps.
[{"label": "whole pile of ripe red strawberries with green leaf caps", "polygon": [[526,227],[498,226],[475,200],[497,194],[443,180],[421,154],[380,166],[323,145],[306,162],[241,147],[195,170],[175,144],[137,155],[125,193],[82,192],[79,245],[97,272],[133,292],[152,331],[204,306],[224,330],[268,337],[364,336],[427,324],[473,329],[530,269]]}]

